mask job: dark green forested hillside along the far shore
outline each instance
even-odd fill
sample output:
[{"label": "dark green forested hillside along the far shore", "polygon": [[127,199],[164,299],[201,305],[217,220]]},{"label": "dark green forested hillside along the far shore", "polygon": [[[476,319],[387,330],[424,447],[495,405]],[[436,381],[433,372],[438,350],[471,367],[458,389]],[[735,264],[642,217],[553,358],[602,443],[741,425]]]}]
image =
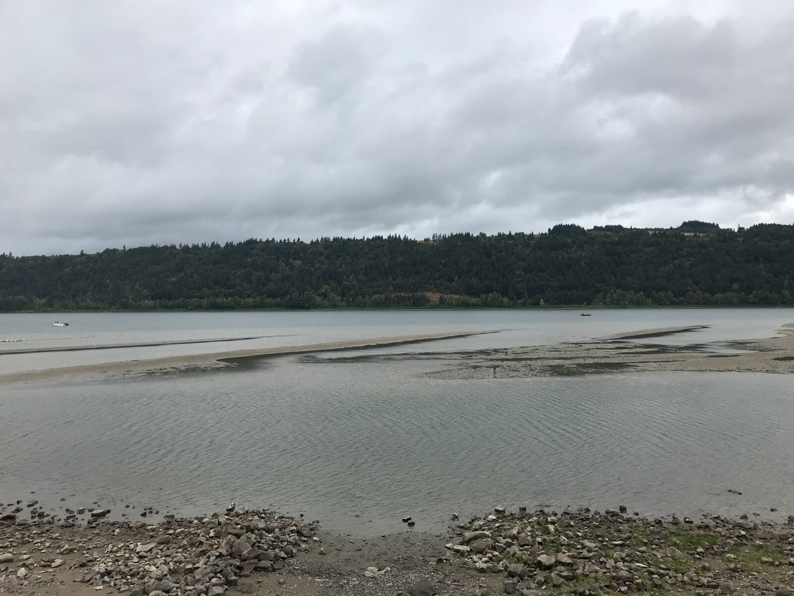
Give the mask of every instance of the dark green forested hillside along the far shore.
[{"label": "dark green forested hillside along the far shore", "polygon": [[794,226],[256,240],[0,255],[0,311],[794,304]]}]

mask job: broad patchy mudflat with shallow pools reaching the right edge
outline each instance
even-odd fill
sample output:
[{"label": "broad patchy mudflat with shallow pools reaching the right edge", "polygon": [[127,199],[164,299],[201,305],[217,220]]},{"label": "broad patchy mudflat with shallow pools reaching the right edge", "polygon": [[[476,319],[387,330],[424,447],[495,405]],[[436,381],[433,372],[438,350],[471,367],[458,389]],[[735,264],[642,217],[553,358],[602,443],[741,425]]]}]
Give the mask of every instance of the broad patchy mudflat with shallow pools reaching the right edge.
[{"label": "broad patchy mudflat with shallow pools reaching the right edge", "polygon": [[643,339],[696,331],[703,326],[632,331],[622,335],[553,346],[529,346],[449,354],[459,366],[430,373],[436,378],[549,377],[650,370],[794,373],[794,325],[777,337],[700,345],[638,343]]}]

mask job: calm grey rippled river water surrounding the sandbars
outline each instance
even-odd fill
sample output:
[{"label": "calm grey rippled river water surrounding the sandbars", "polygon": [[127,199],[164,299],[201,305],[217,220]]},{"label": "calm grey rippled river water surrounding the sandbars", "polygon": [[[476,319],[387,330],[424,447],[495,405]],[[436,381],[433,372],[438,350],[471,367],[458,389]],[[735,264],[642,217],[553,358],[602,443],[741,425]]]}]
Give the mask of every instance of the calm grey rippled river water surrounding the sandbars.
[{"label": "calm grey rippled river water surrounding the sandbars", "polygon": [[[0,350],[499,332],[321,354],[329,358],[262,358],[233,370],[0,385],[5,502],[36,490],[55,505],[100,501],[121,512],[124,500],[201,513],[236,500],[358,534],[402,530],[403,515],[413,515],[417,528],[438,529],[452,511],[483,513],[493,505],[794,513],[794,392],[786,375],[424,376],[451,366],[449,351],[649,327],[711,325],[675,336],[676,343],[771,336],[794,321],[792,309],[595,311],[590,318],[567,311],[59,316],[70,326],[51,327],[52,315],[0,315],[0,340],[25,339],[0,343]],[[229,349],[0,354],[0,373]],[[60,504],[60,496],[67,501]]]}]

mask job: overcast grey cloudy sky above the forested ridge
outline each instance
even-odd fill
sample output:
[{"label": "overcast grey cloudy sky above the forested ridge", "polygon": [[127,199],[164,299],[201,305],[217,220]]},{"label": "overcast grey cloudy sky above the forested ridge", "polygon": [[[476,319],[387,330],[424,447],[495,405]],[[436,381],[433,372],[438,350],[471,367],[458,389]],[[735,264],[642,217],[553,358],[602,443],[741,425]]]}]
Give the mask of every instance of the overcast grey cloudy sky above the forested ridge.
[{"label": "overcast grey cloudy sky above the forested ridge", "polygon": [[792,31],[790,0],[0,2],[0,252],[792,223]]}]

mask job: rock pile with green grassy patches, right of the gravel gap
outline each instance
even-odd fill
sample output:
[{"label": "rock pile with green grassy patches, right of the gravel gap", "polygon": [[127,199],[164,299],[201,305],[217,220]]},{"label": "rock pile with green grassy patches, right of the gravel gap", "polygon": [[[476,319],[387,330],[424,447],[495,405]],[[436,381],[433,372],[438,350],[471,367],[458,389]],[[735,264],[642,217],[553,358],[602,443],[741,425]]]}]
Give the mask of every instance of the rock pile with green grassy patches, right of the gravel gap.
[{"label": "rock pile with green grassy patches, right of the gravel gap", "polygon": [[788,525],[649,521],[626,509],[507,515],[464,525],[447,548],[480,573],[504,576],[503,591],[542,594],[693,593],[789,596],[794,517]]}]

